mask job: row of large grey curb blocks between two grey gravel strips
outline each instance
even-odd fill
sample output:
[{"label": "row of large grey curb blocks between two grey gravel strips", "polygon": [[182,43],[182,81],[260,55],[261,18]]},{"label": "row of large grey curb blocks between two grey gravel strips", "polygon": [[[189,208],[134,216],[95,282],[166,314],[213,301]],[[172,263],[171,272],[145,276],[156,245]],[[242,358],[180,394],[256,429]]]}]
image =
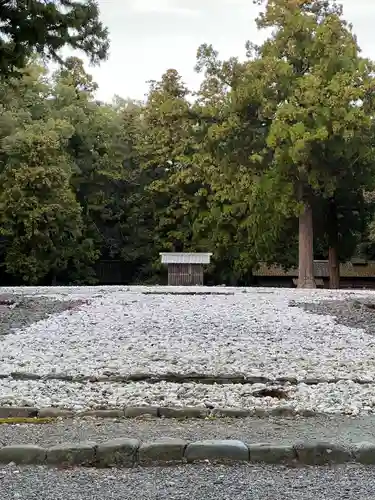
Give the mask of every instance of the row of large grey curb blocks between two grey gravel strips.
[{"label": "row of large grey curb blocks between two grey gravel strips", "polygon": [[0,447],[0,465],[63,467],[136,467],[212,463],[278,464],[289,467],[359,463],[375,465],[375,442],[344,447],[326,442],[295,444],[251,443],[236,440],[187,442],[164,438],[141,443],[118,438],[102,443],[60,443],[50,448],[36,445]]}]

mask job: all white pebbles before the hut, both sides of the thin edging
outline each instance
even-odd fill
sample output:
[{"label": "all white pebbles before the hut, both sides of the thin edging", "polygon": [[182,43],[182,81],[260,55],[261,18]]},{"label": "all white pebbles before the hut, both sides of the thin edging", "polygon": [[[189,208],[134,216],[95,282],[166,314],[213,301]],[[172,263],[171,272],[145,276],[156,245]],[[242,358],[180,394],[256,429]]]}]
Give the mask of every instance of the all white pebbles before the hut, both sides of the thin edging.
[{"label": "all white pebbles before the hut, both sides of the thin edging", "polygon": [[[374,292],[194,288],[194,291],[220,292],[221,295],[142,294],[152,290],[160,292],[165,289],[0,289],[0,293],[16,292],[62,300],[84,298],[90,301],[80,310],[49,317],[0,339],[0,374],[22,371],[39,375],[56,372],[98,376],[108,373],[199,372],[271,379],[356,378],[375,381],[375,335],[339,325],[330,316],[313,315],[297,307],[288,307],[291,300],[311,302],[323,298],[337,300],[369,295],[374,298]],[[181,292],[178,288],[173,291]],[[9,387],[8,380],[0,380],[0,398],[3,400],[4,394],[8,397]],[[114,391],[112,399],[108,396],[111,404],[117,404],[118,398],[121,404],[128,401],[135,404],[149,397],[151,403],[160,404],[161,396],[168,405],[172,404],[172,400],[173,404],[184,401],[176,399],[176,391],[181,386],[175,384],[157,384],[153,386],[155,394],[151,386],[142,384],[110,384],[110,387]],[[192,387],[198,402],[202,402],[206,394],[207,399],[217,398],[225,402],[225,406],[254,404],[251,398],[243,396],[244,391],[248,391],[246,387]],[[324,384],[311,388],[301,386],[296,401],[305,405],[316,405],[320,401],[319,404],[327,408],[339,405],[342,410],[344,404],[350,405],[355,398],[353,404],[358,406],[362,401],[361,395],[369,397],[366,391],[372,391],[371,387],[355,386],[354,390],[349,385],[354,392],[353,395],[350,393],[350,401],[346,403],[348,395],[345,396],[345,387]],[[93,391],[86,392],[76,384],[64,382],[17,381],[11,390],[15,401],[30,397],[34,403],[39,401],[38,405],[42,401],[47,404],[48,398],[52,403],[55,399],[57,402],[65,401],[67,394],[70,394],[71,401],[79,405],[101,404],[96,393],[94,399],[90,399]],[[332,390],[339,394],[333,396],[333,402],[327,396]],[[323,394],[321,399],[320,394]],[[335,397],[340,403],[334,402]],[[134,401],[132,398],[135,398]],[[314,398],[318,398],[318,403],[311,403]],[[190,399],[185,403],[192,404]],[[363,403],[363,406],[366,405]]]}]

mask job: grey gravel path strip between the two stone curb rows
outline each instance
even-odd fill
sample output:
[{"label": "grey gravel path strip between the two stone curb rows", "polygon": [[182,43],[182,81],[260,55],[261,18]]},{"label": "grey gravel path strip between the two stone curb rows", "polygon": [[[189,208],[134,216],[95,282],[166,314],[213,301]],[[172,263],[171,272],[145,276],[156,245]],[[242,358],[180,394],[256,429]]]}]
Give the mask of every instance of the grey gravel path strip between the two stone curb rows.
[{"label": "grey gravel path strip between the two stone curb rows", "polygon": [[101,442],[118,437],[141,441],[163,437],[187,441],[239,439],[246,443],[320,440],[350,444],[374,442],[375,417],[246,418],[216,420],[64,420],[53,424],[0,425],[0,445],[49,446],[70,441]]}]

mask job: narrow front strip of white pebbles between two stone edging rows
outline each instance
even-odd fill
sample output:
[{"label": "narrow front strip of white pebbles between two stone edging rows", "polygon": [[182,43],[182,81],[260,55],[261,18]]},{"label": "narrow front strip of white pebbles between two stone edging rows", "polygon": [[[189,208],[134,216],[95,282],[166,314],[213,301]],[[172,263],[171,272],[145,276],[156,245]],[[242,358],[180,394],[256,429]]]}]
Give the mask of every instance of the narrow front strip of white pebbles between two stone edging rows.
[{"label": "narrow front strip of white pebbles between two stone edging rows", "polygon": [[125,406],[198,406],[214,408],[292,408],[331,414],[375,414],[375,386],[358,385],[352,381],[337,384],[289,387],[287,400],[256,398],[255,384],[210,386],[204,384],[85,383],[59,380],[16,381],[0,380],[0,405],[26,405],[39,408],[57,406],[74,408],[123,408]]}]

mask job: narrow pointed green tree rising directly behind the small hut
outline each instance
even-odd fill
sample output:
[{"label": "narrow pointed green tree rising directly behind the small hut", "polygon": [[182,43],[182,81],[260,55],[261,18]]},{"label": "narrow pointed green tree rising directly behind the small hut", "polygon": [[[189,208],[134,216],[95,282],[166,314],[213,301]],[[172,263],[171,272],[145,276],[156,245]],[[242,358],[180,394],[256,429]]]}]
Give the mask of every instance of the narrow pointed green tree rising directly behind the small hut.
[{"label": "narrow pointed green tree rising directly behind the small hut", "polygon": [[188,89],[175,70],[150,82],[139,136],[141,166],[148,172],[147,192],[153,203],[155,252],[192,248],[193,220],[202,187],[195,165],[194,125]]}]

